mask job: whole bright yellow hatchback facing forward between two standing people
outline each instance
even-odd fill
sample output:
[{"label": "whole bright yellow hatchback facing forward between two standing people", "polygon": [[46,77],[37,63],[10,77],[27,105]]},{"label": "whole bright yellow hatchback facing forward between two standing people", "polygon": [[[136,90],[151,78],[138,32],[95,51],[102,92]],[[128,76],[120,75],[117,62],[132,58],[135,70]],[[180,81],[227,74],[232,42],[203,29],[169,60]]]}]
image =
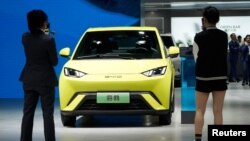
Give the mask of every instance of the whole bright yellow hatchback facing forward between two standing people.
[{"label": "whole bright yellow hatchback facing forward between two standing people", "polygon": [[172,57],[179,48],[164,48],[155,27],[89,28],[59,79],[61,119],[74,126],[77,116],[157,115],[161,125],[171,124],[174,112]]}]

